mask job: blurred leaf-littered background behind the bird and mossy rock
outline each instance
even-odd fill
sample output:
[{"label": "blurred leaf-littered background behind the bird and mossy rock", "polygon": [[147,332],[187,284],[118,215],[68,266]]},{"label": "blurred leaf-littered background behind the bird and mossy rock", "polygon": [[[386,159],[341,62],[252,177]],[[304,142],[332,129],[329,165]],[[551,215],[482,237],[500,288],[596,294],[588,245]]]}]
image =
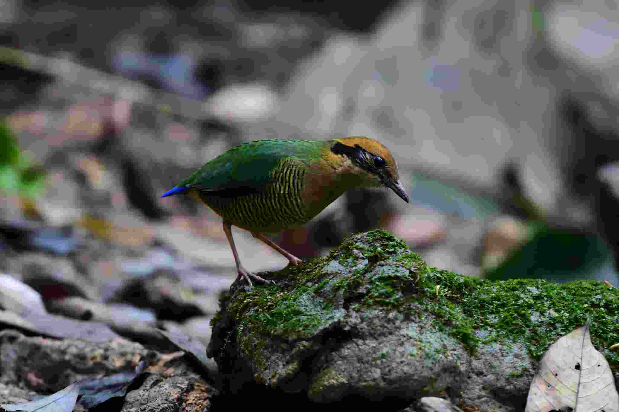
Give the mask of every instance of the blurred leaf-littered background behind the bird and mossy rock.
[{"label": "blurred leaf-littered background behind the bird and mossy rock", "polygon": [[440,269],[619,284],[617,2],[84,4],[0,1],[0,269],[45,299],[210,316],[221,219],[158,196],[245,141],[348,135],[412,204],[351,191],[273,237],[300,258],[383,227]]}]

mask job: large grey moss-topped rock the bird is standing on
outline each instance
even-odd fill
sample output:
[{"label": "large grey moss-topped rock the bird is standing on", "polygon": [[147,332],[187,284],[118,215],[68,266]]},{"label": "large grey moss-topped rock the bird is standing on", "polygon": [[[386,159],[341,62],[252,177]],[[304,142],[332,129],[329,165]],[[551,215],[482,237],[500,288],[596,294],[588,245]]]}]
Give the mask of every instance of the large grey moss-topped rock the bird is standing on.
[{"label": "large grey moss-topped rock the bird is standing on", "polygon": [[212,322],[207,355],[224,393],[254,385],[319,403],[446,394],[466,410],[515,411],[548,345],[589,316],[600,325],[594,345],[608,347],[613,318],[592,307],[619,309],[602,282],[490,282],[430,268],[384,230],[261,275],[277,284],[233,285]]}]

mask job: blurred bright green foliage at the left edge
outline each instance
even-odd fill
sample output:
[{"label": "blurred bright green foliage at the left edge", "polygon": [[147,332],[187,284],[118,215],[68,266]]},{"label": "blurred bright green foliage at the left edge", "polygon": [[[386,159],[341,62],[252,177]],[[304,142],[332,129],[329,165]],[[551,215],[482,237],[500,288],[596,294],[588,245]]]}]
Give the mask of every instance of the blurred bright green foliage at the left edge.
[{"label": "blurred bright green foliage at the left edge", "polygon": [[0,191],[33,197],[42,185],[43,170],[24,156],[6,121],[0,120]]}]

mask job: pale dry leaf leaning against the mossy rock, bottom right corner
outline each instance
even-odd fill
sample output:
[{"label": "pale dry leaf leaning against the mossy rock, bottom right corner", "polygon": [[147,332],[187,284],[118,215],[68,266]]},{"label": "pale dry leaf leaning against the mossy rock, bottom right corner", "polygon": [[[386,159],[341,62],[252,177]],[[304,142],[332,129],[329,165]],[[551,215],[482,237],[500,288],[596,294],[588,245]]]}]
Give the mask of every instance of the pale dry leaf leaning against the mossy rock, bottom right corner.
[{"label": "pale dry leaf leaning against the mossy rock, bottom right corner", "polygon": [[591,343],[589,321],[552,344],[540,361],[525,412],[619,412],[608,362]]}]

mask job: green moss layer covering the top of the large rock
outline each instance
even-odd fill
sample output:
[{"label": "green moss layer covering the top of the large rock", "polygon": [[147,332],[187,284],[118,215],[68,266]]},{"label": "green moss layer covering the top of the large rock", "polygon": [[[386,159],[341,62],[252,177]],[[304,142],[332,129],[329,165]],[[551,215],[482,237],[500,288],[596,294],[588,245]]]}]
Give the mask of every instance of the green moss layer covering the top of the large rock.
[{"label": "green moss layer covering the top of the large rock", "polygon": [[[536,359],[589,317],[592,342],[613,371],[619,371],[619,354],[605,349],[619,343],[619,292],[601,282],[491,282],[441,271],[426,266],[384,230],[348,238],[329,256],[272,275],[277,285],[240,289],[222,301],[250,356],[260,356],[259,334],[298,340],[345,322],[346,311],[337,309],[345,303],[357,311],[381,309],[415,317],[429,313],[433,327],[471,353],[485,343],[517,342]],[[212,324],[220,319],[216,316]]]}]

